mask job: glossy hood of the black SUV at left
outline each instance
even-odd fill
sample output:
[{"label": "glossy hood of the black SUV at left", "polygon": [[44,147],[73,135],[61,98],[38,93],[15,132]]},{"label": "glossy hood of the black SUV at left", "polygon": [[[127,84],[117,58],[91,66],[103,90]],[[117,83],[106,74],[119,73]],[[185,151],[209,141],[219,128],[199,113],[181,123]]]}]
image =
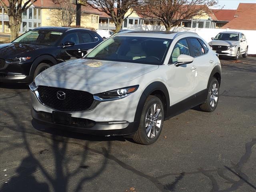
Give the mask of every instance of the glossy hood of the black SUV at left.
[{"label": "glossy hood of the black SUV at left", "polygon": [[10,59],[19,56],[29,56],[28,54],[32,54],[31,52],[42,48],[48,48],[48,46],[7,43],[0,45],[0,55],[4,59]]}]

